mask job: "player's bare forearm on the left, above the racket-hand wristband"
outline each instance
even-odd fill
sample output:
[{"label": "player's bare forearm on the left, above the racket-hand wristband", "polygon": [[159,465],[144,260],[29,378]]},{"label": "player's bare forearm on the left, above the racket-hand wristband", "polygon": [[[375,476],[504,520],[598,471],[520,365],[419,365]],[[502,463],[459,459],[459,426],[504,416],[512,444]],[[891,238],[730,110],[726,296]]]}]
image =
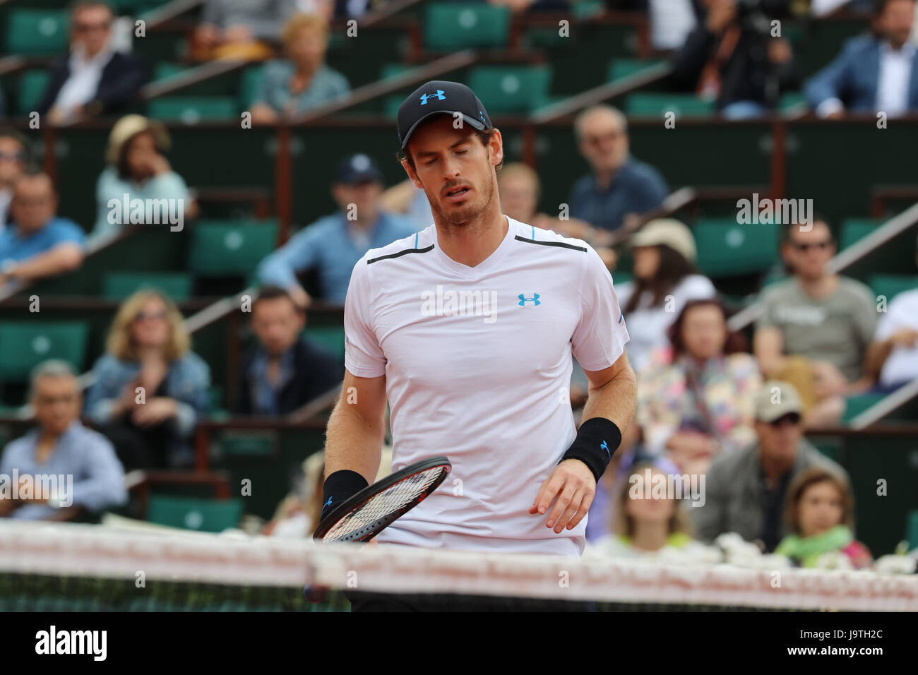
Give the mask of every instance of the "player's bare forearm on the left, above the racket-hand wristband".
[{"label": "player's bare forearm on the left, above the racket-hand wristband", "polygon": [[386,437],[386,377],[345,373],[325,441],[325,476],[356,471],[373,483]]}]

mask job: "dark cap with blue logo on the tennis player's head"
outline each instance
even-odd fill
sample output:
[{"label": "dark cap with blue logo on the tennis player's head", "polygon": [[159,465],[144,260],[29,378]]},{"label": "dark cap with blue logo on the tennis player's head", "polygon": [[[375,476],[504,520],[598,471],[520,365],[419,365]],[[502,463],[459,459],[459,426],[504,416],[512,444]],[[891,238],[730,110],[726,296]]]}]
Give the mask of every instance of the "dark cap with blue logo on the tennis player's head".
[{"label": "dark cap with blue logo on the tennis player's head", "polygon": [[453,116],[459,113],[474,129],[494,129],[485,106],[465,84],[431,80],[411,92],[398,107],[398,143],[401,149],[405,150],[411,134],[422,121],[439,113]]}]

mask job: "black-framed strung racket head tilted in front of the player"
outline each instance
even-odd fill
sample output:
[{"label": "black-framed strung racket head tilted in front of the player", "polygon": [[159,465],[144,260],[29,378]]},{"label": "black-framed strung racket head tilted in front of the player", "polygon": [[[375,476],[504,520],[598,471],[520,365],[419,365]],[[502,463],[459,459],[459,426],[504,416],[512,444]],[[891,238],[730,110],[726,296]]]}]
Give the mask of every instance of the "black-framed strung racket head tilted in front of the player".
[{"label": "black-framed strung racket head tilted in front of the player", "polygon": [[342,501],[322,519],[312,538],[326,544],[372,539],[440,487],[452,468],[445,456],[401,468]]}]

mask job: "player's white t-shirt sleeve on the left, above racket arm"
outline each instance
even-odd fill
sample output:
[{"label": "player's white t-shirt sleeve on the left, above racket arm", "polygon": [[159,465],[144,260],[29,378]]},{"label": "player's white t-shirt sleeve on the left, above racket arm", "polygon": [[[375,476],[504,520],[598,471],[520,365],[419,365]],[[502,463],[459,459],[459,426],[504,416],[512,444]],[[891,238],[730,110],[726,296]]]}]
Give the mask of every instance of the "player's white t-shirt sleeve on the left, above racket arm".
[{"label": "player's white t-shirt sleeve on the left, above racket arm", "polygon": [[357,377],[386,375],[386,354],[373,326],[370,265],[364,256],[354,265],[344,299],[344,367]]}]

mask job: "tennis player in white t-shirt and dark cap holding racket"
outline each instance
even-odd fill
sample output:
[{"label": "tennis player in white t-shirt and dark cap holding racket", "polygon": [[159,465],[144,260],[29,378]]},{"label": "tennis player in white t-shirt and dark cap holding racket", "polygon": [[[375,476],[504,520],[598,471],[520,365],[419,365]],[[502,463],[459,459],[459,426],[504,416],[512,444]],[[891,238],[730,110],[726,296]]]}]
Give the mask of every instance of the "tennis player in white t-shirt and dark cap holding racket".
[{"label": "tennis player in white t-shirt and dark cap holding racket", "polygon": [[[453,471],[379,544],[579,557],[635,406],[612,278],[586,242],[501,214],[503,139],[465,84],[422,85],[397,130],[433,223],[354,266],[323,514],[375,478],[388,400],[393,470],[445,455]],[[572,353],[590,383],[579,431]]]}]

